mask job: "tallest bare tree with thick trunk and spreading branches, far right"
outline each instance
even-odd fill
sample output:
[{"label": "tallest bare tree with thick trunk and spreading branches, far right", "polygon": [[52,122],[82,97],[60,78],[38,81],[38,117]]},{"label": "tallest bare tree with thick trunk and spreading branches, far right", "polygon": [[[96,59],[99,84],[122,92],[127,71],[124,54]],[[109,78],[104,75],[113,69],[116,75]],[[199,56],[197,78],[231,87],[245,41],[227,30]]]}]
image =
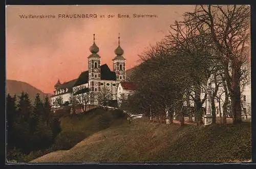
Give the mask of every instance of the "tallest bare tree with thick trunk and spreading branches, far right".
[{"label": "tallest bare tree with thick trunk and spreading branches, far right", "polygon": [[209,33],[223,65],[225,81],[230,92],[233,123],[241,123],[240,78],[243,63],[250,48],[250,7],[247,5],[201,5],[186,13],[189,24]]}]

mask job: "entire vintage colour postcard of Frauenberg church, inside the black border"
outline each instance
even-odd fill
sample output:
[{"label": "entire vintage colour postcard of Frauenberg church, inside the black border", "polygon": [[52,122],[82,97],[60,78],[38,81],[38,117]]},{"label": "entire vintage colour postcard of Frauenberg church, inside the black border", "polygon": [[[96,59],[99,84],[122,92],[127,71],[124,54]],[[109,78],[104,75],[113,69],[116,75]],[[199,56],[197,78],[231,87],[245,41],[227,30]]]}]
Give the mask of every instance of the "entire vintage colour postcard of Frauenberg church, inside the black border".
[{"label": "entire vintage colour postcard of Frauenberg church, inside the black border", "polygon": [[7,163],[251,161],[250,6],[6,6]]}]

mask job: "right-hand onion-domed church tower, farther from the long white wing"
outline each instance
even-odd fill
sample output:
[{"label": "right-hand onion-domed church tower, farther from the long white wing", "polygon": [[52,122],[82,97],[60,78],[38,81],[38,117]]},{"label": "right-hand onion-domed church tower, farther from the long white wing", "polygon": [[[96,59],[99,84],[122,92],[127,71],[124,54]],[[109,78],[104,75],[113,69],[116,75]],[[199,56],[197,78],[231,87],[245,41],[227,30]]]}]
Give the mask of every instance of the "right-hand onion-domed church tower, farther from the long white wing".
[{"label": "right-hand onion-domed church tower, farther from the long white wing", "polygon": [[123,57],[123,50],[120,47],[120,34],[118,36],[118,47],[115,50],[116,57],[113,59],[113,68],[116,73],[117,81],[125,81],[125,59]]}]

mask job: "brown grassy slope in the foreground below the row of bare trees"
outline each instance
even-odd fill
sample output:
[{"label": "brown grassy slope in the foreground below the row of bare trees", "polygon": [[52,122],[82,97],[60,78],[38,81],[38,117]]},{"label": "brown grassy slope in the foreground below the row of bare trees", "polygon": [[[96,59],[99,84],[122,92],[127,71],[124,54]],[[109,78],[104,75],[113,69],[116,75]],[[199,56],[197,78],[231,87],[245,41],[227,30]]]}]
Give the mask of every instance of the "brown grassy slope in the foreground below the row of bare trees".
[{"label": "brown grassy slope in the foreground below the row of bare trees", "polygon": [[[66,120],[66,124],[70,123],[68,128],[76,126],[74,132],[81,133],[82,126],[89,123],[85,119],[84,123]],[[32,162],[234,162],[251,157],[250,124],[180,127],[154,124],[147,119],[119,123],[122,124],[87,137],[70,150],[52,152]]]}]

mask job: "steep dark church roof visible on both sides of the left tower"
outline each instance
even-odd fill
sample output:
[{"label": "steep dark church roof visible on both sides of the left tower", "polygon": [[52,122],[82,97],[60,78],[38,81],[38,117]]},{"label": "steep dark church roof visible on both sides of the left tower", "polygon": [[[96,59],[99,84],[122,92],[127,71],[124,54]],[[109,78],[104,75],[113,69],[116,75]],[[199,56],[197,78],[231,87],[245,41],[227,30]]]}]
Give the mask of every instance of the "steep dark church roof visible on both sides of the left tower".
[{"label": "steep dark church roof visible on both sides of the left tower", "polygon": [[[88,83],[89,80],[89,73],[87,71],[83,71],[77,81],[75,82],[74,86],[80,86],[82,84]],[[103,64],[100,66],[100,80],[116,80],[116,74],[114,71],[111,71],[107,64]]]}]

